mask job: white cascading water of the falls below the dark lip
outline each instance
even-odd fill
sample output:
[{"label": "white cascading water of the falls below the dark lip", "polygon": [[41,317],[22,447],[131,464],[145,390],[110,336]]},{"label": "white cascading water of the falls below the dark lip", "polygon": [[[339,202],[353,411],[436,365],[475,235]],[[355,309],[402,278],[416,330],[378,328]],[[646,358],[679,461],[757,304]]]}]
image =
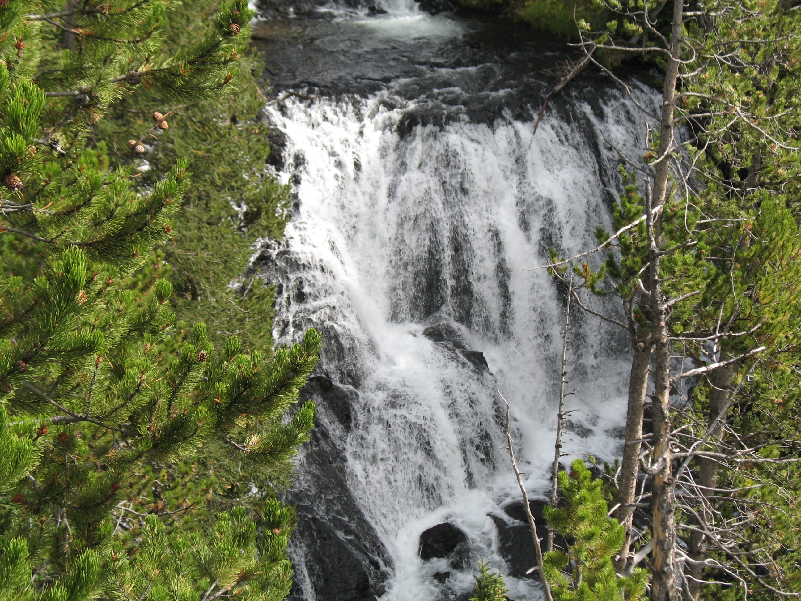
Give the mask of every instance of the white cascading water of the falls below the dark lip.
[{"label": "white cascading water of the falls below the dark lip", "polygon": [[[614,171],[618,157],[604,144],[598,156],[594,140],[601,131],[636,156],[645,128],[624,95],[608,96],[600,116],[578,106],[594,133],[546,115],[534,137],[533,123],[511,119],[400,135],[396,125],[413,103],[390,106],[392,86],[368,99],[268,107],[287,136],[281,175],[299,179],[300,208],[282,248],[304,266],[294,277],[305,295],[301,304],[279,296],[276,340],[323,325],[338,348],[336,359],[324,352],[327,369],[357,374],[351,430],[324,411],[320,421],[341,436],[348,487],[392,557],[386,601],[437,599],[430,576],[444,564],[418,558],[421,532],[437,523],[459,526],[477,556],[503,569],[488,515],[520,494],[496,388],[512,405],[529,491],[549,486],[562,305],[545,270],[526,269],[544,264],[551,244],[570,255],[597,244],[597,225],[611,228],[599,166]],[[568,369],[578,391],[568,409],[578,411],[565,450],[614,458],[626,340],[593,317],[577,320]],[[491,373],[423,335],[441,323],[483,352]],[[512,599],[541,598],[532,580],[507,583]],[[451,577],[454,590],[472,585],[469,571]]]}]

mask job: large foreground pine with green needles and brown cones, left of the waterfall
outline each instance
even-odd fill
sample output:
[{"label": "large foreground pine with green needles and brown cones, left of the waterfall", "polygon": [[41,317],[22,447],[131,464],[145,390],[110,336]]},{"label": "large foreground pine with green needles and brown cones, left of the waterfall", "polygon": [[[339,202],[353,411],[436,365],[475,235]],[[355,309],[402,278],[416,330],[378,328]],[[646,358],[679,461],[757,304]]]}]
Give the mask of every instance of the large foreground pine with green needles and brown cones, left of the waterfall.
[{"label": "large foreground pine with green needles and brown cones, left of the waterfall", "polygon": [[[183,159],[139,179],[175,127],[162,107],[235,91],[252,17],[224,3],[167,52],[171,8],[0,6],[0,599],[283,599],[291,583],[294,515],[272,486],[313,425],[311,402],[291,408],[320,335],[271,357],[215,348],[143,277],[191,186]],[[103,142],[130,95],[149,124]],[[246,482],[221,493],[230,470]]]}]

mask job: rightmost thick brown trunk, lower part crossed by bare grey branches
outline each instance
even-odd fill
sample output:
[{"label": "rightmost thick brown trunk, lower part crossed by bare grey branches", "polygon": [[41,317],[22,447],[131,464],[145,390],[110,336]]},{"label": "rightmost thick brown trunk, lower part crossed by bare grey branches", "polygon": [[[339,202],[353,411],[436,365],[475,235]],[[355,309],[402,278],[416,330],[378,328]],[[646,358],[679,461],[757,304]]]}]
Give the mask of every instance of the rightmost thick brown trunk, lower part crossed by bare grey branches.
[{"label": "rightmost thick brown trunk, lower part crossed by bare grey branches", "polygon": [[[723,361],[723,357],[721,357],[721,361]],[[712,423],[728,405],[731,380],[734,373],[734,364],[725,365],[714,372],[709,405],[710,423]],[[714,445],[716,442],[719,442],[723,436],[723,422],[724,420],[721,419],[715,424],[709,437],[710,444]],[[710,457],[701,458],[701,467],[698,470],[698,484],[702,486],[700,494],[703,497],[703,505],[700,507],[698,513],[701,514],[701,517],[706,523],[709,523],[711,520],[711,512],[707,504],[710,502],[708,497],[715,494],[714,489],[718,486],[718,468],[719,464],[717,459]],[[698,530],[693,530],[690,535],[689,551],[690,559],[694,561],[702,562],[706,559],[706,536]],[[692,599],[698,599],[698,594],[701,590],[701,583],[698,582],[698,579],[702,577],[703,566],[700,563],[689,563],[688,572],[692,577],[691,579],[687,579],[688,591],[690,591]]]}]

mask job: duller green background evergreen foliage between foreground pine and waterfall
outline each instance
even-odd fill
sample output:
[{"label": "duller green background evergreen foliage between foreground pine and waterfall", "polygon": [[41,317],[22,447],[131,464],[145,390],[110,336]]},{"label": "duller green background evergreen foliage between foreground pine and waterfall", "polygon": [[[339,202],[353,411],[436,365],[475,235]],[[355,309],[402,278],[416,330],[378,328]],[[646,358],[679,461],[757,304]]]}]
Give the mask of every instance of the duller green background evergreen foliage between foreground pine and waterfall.
[{"label": "duller green background evergreen foliage between foreground pine and waterfall", "polygon": [[[214,14],[214,0],[186,0],[171,12],[165,46],[171,51],[203,35]],[[180,157],[191,159],[192,185],[184,196],[180,228],[159,244],[143,270],[144,278],[166,278],[174,296],[176,327],[203,319],[209,337],[223,344],[231,334],[244,346],[272,347],[272,288],[248,273],[253,244],[278,240],[288,221],[288,186],[279,184],[265,163],[268,129],[260,123],[264,107],[260,80],[264,61],[253,50],[240,52],[236,90],[219,99],[163,105],[140,91],[120,99],[111,119],[98,124],[106,140],[126,139],[143,127],[153,107],[171,112],[171,127],[147,153],[147,171],[138,181],[151,185]],[[114,161],[131,160],[124,147],[109,147]]]}]

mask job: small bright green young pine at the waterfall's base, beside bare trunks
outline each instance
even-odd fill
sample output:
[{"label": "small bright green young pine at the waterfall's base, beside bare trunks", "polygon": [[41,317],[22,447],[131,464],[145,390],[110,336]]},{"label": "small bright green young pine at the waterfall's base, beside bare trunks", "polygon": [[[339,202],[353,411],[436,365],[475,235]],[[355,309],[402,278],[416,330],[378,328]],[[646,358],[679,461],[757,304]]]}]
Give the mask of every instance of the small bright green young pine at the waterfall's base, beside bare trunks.
[{"label": "small bright green young pine at the waterfall's base, beside bare trunks", "polygon": [[612,557],[623,544],[624,529],[608,515],[602,481],[593,479],[581,459],[570,473],[559,472],[564,505],[545,506],[549,528],[569,542],[566,551],[545,553],[545,579],[555,601],[638,601],[644,599],[648,572],[618,576]]}]

